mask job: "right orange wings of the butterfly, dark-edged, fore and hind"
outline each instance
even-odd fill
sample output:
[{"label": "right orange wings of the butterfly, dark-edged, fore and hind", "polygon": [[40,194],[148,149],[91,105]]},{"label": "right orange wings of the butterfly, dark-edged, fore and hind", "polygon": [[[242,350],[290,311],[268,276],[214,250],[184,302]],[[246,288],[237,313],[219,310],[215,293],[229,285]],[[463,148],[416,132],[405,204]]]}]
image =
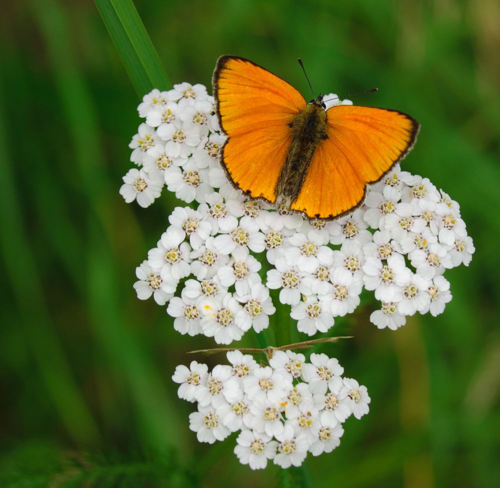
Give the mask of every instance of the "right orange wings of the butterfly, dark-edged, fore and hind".
[{"label": "right orange wings of the butterfly, dark-edged, fore and hind", "polygon": [[418,122],[396,110],[337,105],[326,111],[326,134],[290,208],[334,219],[359,206],[366,186],[380,180],[413,146]]}]

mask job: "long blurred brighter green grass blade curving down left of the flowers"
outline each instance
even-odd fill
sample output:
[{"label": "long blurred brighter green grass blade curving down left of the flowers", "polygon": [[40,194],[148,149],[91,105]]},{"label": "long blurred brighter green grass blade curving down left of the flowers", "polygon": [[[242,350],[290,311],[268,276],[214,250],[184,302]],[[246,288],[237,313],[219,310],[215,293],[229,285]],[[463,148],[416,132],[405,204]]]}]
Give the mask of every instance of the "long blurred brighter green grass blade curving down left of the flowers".
[{"label": "long blurred brighter green grass blade curving down left of the flowers", "polygon": [[142,346],[142,340],[133,333],[132,324],[119,303],[113,244],[108,240],[113,236],[106,234],[106,229],[112,227],[114,219],[109,209],[112,208],[116,193],[113,193],[104,169],[105,160],[98,138],[101,129],[97,107],[84,75],[75,63],[72,45],[61,41],[69,38],[65,10],[60,2],[54,0],[47,0],[43,5],[32,0],[31,5],[46,45],[55,87],[73,144],[75,171],[85,189],[88,241],[85,275],[81,279],[85,280],[86,289],[83,292],[90,325],[97,345],[103,355],[109,358],[115,377],[129,388],[137,409],[143,444],[161,452],[175,441],[177,448],[180,448],[183,444],[178,431],[180,416],[164,386],[165,382],[169,382],[171,372],[159,371],[149,360],[148,351]]}]

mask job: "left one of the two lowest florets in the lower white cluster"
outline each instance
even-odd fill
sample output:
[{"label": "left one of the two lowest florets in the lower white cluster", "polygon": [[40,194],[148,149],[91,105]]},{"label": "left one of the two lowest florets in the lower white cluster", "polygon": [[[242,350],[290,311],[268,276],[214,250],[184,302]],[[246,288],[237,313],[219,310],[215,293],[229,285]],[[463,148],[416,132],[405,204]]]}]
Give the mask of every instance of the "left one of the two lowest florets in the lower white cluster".
[{"label": "left one of the two lowest florets in the lower white cluster", "polygon": [[276,455],[278,442],[271,437],[255,430],[241,430],[234,447],[234,453],[241,464],[248,464],[251,469],[263,469],[267,459]]}]

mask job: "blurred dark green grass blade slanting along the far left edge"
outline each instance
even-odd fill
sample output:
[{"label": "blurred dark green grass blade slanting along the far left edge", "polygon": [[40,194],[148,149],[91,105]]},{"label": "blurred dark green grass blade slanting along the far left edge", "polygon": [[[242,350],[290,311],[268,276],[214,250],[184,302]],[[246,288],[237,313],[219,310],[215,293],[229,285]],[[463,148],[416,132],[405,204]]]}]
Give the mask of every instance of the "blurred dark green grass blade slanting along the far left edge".
[{"label": "blurred dark green grass blade slanting along the far left edge", "polygon": [[[0,93],[1,91],[0,86]],[[9,125],[3,117],[0,99],[0,127],[6,129]],[[0,233],[0,255],[3,261],[2,269],[15,297],[13,305],[19,311],[19,320],[18,323],[2,325],[9,327],[20,325],[23,328],[26,343],[62,424],[75,443],[88,446],[97,443],[100,434],[75,381],[69,360],[47,309],[38,265],[29,245],[33,239],[29,237],[21,212],[22,197],[17,190],[12,170],[15,159],[8,151],[7,141],[10,137],[10,133],[0,130],[0,167],[6,185],[0,194],[0,220],[3,228],[8,229]],[[26,276],[29,278],[26,279]]]}]

